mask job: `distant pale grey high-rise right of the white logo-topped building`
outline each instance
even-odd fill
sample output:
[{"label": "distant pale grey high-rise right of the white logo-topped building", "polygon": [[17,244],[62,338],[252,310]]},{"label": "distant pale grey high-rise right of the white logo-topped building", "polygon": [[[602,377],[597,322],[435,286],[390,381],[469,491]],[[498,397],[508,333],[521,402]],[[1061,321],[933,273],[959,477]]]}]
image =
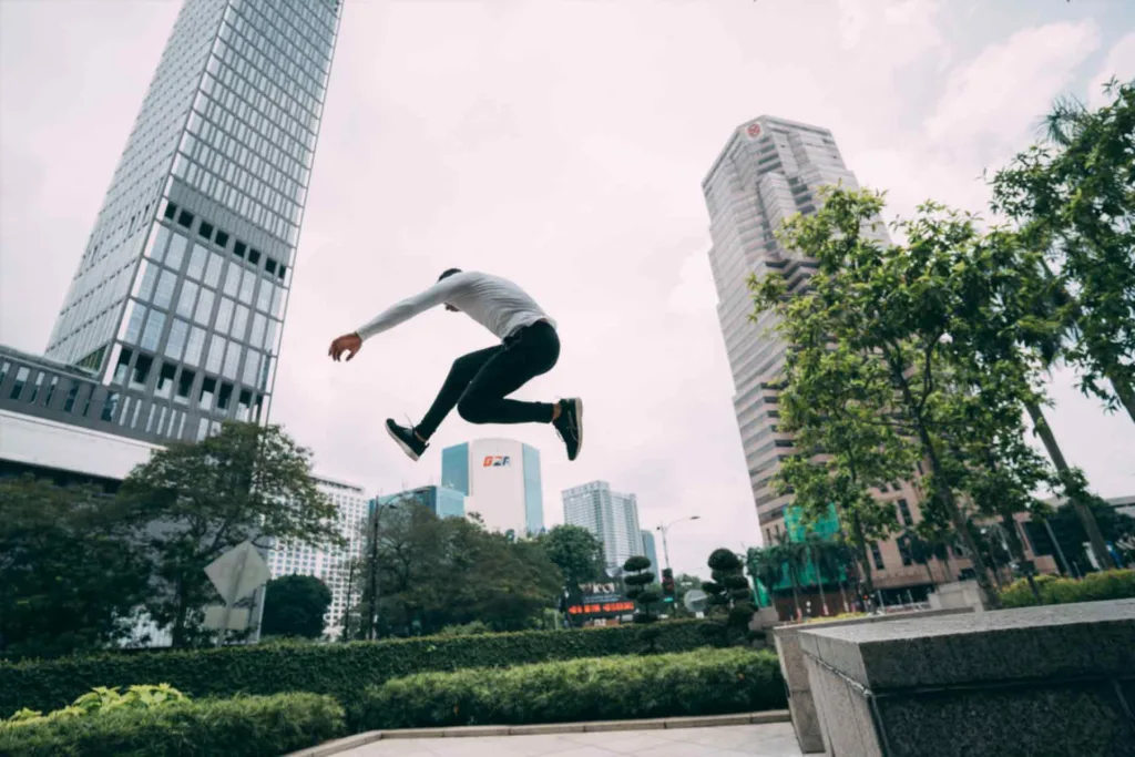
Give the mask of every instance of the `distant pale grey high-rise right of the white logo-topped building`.
[{"label": "distant pale grey high-rise right of the white logo-topped building", "polygon": [[622,567],[628,557],[642,554],[638,499],[633,494],[611,490],[606,481],[591,481],[565,489],[564,522],[581,525],[603,542],[607,567]]}]

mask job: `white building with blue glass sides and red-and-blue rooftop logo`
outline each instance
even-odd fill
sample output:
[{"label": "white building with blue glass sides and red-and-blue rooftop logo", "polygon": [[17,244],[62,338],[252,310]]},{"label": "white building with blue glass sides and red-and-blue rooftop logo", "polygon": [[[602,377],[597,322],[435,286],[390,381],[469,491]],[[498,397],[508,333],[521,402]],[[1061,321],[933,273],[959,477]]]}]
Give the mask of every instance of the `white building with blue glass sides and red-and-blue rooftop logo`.
[{"label": "white building with blue glass sides and red-and-blue rooftop logo", "polygon": [[464,495],[465,514],[489,530],[544,531],[540,452],[513,439],[478,439],[442,451],[442,487]]}]

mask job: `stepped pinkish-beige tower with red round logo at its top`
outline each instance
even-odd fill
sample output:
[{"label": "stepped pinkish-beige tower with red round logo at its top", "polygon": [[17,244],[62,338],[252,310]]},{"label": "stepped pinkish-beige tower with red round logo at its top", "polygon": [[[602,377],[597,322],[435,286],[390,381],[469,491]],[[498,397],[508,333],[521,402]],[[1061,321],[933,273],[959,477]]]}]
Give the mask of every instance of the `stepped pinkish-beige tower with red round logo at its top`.
[{"label": "stepped pinkish-beige tower with red round logo at its top", "polygon": [[[774,236],[788,218],[819,204],[818,190],[842,183],[857,188],[827,129],[762,116],[738,127],[701,183],[709,210],[709,264],[717,287],[717,317],[733,373],[733,410],[765,542],[782,532],[784,506],[770,481],[793,453],[792,438],[776,429],[776,377],[785,345],[770,333],[768,314],[749,319],[746,280],[779,270],[801,291],[815,264],[785,250]],[[885,239],[885,232],[878,232]]]}]

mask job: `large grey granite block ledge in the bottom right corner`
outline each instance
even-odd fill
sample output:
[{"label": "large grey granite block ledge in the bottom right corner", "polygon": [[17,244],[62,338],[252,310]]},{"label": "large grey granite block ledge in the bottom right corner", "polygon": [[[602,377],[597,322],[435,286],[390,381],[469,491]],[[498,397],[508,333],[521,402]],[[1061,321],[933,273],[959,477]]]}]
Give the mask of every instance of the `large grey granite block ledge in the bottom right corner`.
[{"label": "large grey granite block ledge in the bottom right corner", "polygon": [[1135,600],[819,626],[799,644],[829,755],[1135,757]]}]

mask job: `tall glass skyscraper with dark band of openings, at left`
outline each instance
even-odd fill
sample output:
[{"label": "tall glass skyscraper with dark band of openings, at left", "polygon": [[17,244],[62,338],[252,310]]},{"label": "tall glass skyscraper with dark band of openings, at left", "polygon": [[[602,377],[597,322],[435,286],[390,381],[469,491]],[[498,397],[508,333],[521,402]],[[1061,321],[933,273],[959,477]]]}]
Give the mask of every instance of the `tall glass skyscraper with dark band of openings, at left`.
[{"label": "tall glass skyscraper with dark band of openings, at left", "polygon": [[185,0],[47,351],[120,432],[267,418],[339,14]]}]

